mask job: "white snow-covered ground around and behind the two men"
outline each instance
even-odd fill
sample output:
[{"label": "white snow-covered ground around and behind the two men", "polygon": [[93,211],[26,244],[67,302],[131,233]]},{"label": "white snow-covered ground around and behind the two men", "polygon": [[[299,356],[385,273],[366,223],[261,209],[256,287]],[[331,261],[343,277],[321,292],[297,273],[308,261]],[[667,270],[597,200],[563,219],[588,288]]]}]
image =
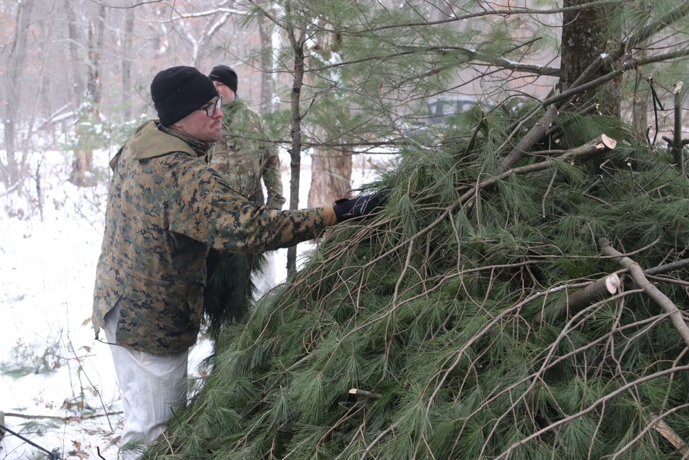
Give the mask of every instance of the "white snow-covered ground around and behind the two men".
[{"label": "white snow-covered ground around and behind the two men", "polygon": [[[26,193],[33,197],[30,202],[0,186],[0,424],[38,446],[7,433],[0,441],[0,460],[48,459],[46,452],[55,448],[62,459],[116,458],[119,390],[110,350],[94,340],[90,321],[109,154],[95,155],[103,178],[93,188],[76,188],[68,181],[69,154],[45,155],[40,168],[43,219],[35,189]],[[369,155],[355,159],[353,187],[370,180],[370,160]],[[286,154],[282,164],[289,194]],[[300,183],[305,207],[311,183],[308,157],[302,160]],[[27,182],[28,188],[35,186],[32,179]],[[303,254],[309,245],[299,248]],[[285,279],[286,254],[276,254],[277,281]],[[206,341],[192,348],[191,374],[209,349]]]}]

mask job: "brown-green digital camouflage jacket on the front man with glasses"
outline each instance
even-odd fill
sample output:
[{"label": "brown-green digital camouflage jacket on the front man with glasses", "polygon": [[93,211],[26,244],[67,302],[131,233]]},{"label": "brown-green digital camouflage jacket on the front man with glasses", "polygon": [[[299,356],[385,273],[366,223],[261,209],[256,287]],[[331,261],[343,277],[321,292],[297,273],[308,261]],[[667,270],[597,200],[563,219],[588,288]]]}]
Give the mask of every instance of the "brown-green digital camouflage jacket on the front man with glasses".
[{"label": "brown-green digital camouflage jacket on the front man with glasses", "polygon": [[209,144],[148,121],[113,170],[96,267],[96,337],[117,301],[116,343],[150,353],[196,342],[209,248],[264,252],[312,239],[324,210],[278,211],[238,194],[205,161]]}]

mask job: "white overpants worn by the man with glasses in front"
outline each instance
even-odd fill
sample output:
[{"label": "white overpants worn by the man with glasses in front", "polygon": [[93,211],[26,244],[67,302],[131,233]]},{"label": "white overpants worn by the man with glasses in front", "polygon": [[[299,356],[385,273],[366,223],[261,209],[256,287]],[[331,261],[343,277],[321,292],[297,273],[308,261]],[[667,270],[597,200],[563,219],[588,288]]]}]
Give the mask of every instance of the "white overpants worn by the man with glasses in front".
[{"label": "white overpants worn by the man with glasses in front", "polygon": [[[119,305],[116,305],[105,316],[105,338],[110,343],[124,409],[120,446],[130,441],[150,443],[165,431],[172,411],[186,401],[189,350],[154,354],[116,346],[118,318]],[[119,454],[120,459],[138,457],[137,450],[125,449]]]}]

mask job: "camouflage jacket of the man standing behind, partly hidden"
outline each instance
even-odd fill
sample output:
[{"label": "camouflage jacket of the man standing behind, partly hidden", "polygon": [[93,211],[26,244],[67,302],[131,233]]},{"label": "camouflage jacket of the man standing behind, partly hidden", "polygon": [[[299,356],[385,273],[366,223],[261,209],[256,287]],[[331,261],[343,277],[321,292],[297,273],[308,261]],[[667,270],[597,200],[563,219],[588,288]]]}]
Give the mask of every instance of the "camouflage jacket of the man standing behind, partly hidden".
[{"label": "camouflage jacket of the man standing behind, partly hidden", "polygon": [[[241,99],[223,106],[223,139],[208,152],[209,164],[230,186],[259,205],[282,209],[280,157],[276,144],[267,141],[265,123]],[[268,199],[263,196],[261,181]]]}]

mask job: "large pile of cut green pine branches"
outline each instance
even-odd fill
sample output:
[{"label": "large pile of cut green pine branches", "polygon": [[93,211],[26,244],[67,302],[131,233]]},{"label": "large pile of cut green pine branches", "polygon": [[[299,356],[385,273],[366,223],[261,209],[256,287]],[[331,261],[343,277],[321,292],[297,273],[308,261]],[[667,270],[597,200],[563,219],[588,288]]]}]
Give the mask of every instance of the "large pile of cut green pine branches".
[{"label": "large pile of cut green pine branches", "polygon": [[689,181],[619,120],[460,114],[223,328],[146,458],[680,459]]}]

